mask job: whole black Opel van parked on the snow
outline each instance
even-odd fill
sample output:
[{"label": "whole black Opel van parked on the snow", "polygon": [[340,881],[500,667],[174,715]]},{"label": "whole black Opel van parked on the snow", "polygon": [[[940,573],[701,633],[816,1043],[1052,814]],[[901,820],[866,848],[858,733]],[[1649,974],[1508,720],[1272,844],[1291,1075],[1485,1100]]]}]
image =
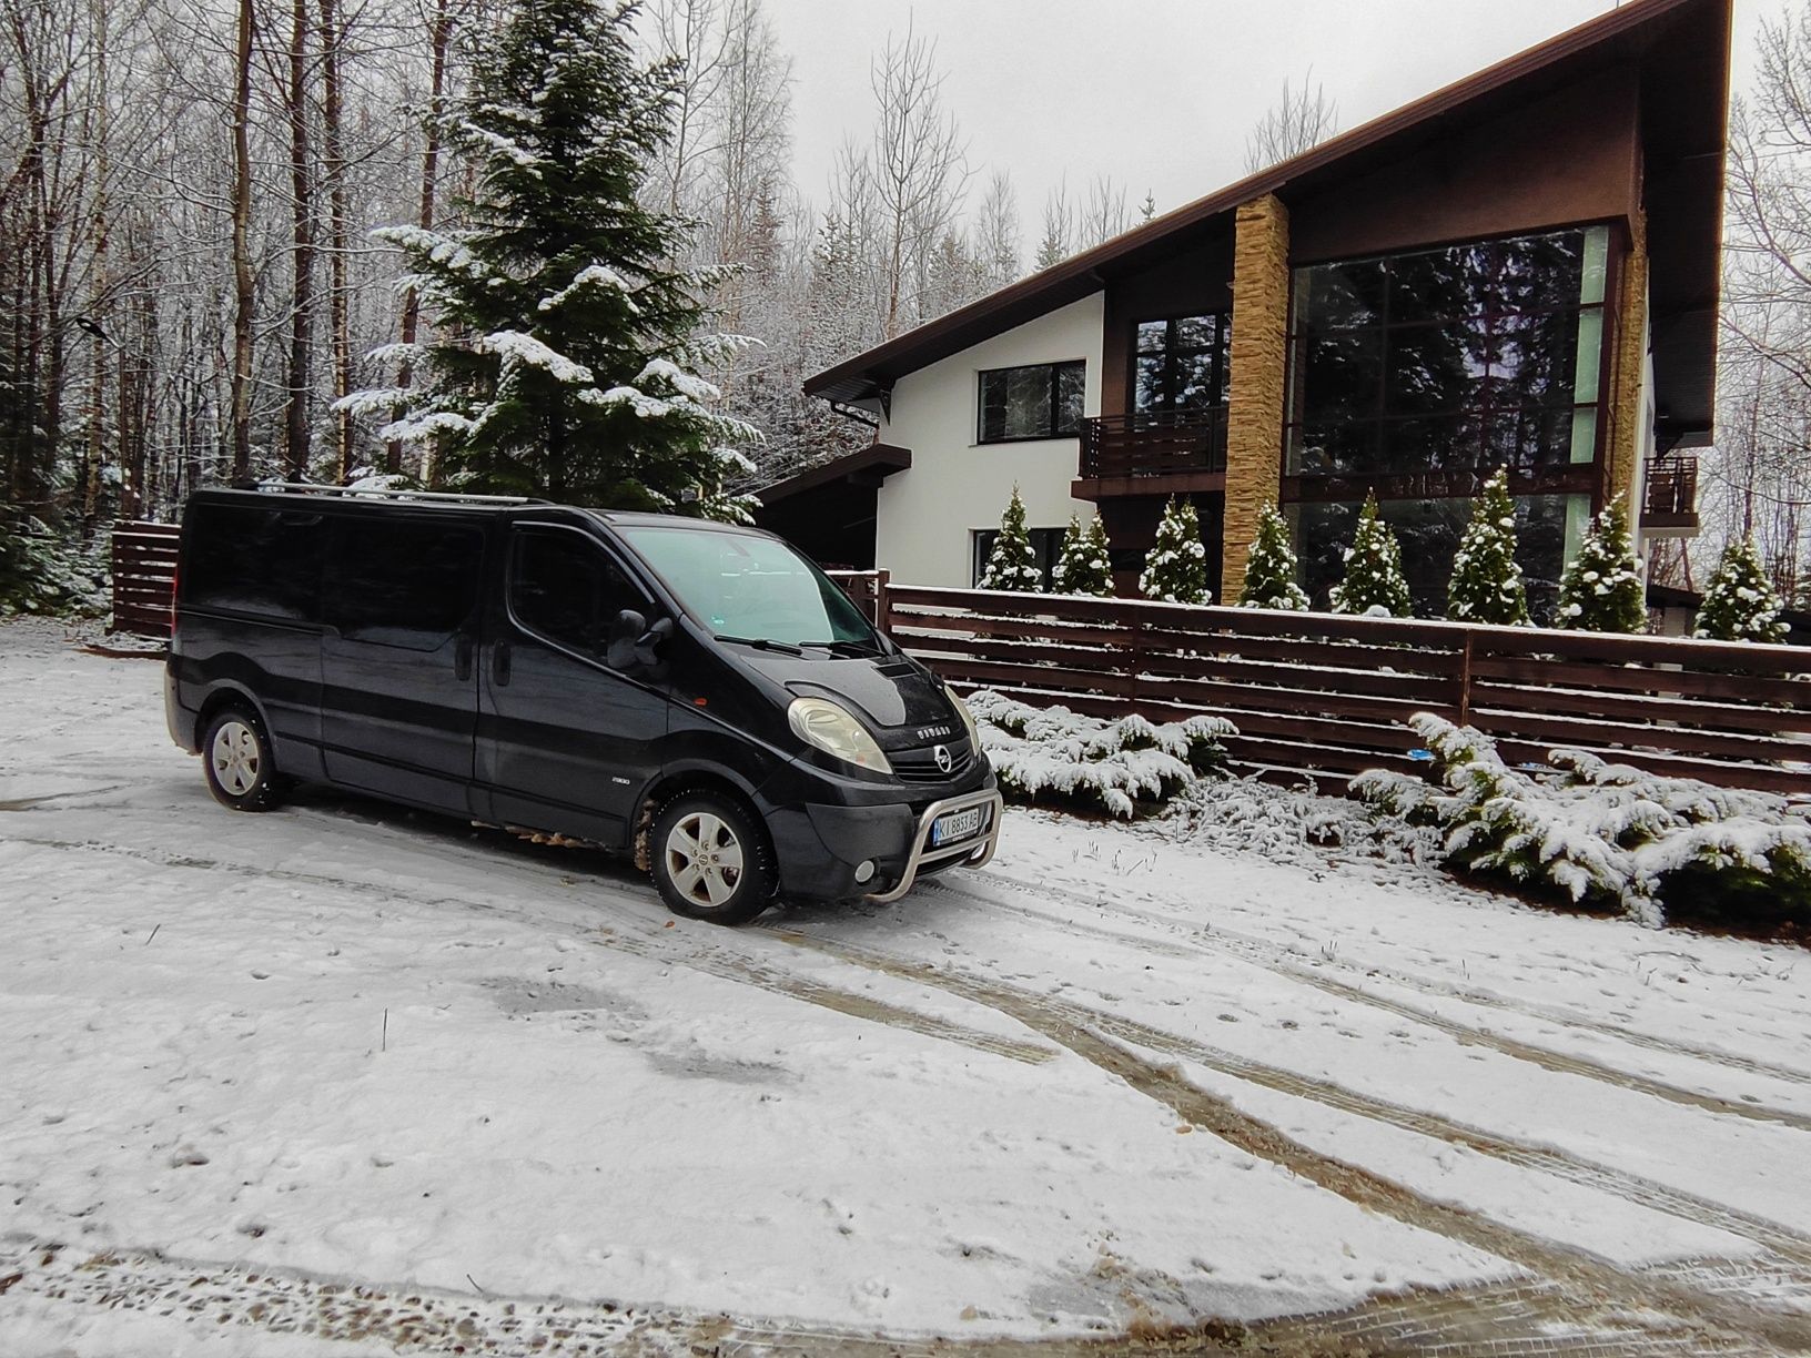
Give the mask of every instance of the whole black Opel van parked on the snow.
[{"label": "whole black Opel van parked on the snow", "polygon": [[165,675],[214,797],[330,782],[632,851],[677,914],[980,867],[962,701],[782,540],[665,514],[201,491]]}]

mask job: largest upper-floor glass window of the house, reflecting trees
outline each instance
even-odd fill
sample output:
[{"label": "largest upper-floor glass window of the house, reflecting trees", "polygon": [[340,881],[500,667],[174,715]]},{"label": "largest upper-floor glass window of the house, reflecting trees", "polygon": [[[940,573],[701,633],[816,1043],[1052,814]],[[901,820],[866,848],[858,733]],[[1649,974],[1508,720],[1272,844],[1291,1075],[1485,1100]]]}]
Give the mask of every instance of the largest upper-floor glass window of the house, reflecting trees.
[{"label": "largest upper-floor glass window of the house, reflecting trees", "polygon": [[1608,228],[1295,272],[1291,474],[1592,462]]}]

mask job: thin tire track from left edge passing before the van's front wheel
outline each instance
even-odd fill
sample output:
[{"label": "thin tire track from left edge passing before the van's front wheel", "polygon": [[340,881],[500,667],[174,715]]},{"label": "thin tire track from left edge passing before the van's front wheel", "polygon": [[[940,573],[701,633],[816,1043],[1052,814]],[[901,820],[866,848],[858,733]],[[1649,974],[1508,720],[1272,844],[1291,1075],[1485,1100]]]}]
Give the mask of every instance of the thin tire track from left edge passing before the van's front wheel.
[{"label": "thin tire track from left edge passing before the van's front wheel", "polygon": [[[413,891],[409,887],[391,887],[377,882],[360,882],[359,878],[331,876],[324,873],[299,873],[284,867],[257,867],[248,864],[234,864],[217,858],[196,858],[181,853],[161,853],[150,849],[132,849],[123,844],[107,844],[103,840],[47,840],[47,838],[25,838],[25,837],[0,837],[0,844],[33,844],[49,849],[81,849],[91,853],[120,855],[127,858],[136,858],[139,862],[156,864],[159,867],[185,867],[196,871],[217,871],[232,873],[235,876],[250,876],[257,880],[277,880],[277,882],[295,882],[315,887],[328,887],[335,891],[350,891],[360,896],[380,894],[386,900],[409,900],[418,905],[455,905],[462,909],[478,909],[487,914],[496,914],[503,918],[520,920],[532,923],[536,927],[547,927],[549,923],[561,923],[572,927],[569,922],[554,920],[549,914],[538,914],[531,909],[518,909],[511,905],[498,905],[494,902],[473,900],[469,896],[451,896],[451,894],[433,894]],[[976,1052],[987,1052],[991,1056],[1000,1056],[1009,1061],[1021,1061],[1025,1065],[1041,1065],[1056,1057],[1056,1050],[1043,1047],[1040,1043],[1018,1041],[1016,1038],[1007,1038],[1001,1034],[982,1032],[980,1028],[971,1028],[953,1019],[938,1018],[934,1014],[920,1014],[916,1010],[906,1009],[902,1005],[893,1005],[873,996],[858,994],[855,990],[840,990],[833,985],[822,981],[813,981],[800,976],[791,976],[773,967],[766,967],[750,958],[743,958],[732,952],[724,952],[710,943],[694,942],[692,947],[676,951],[672,947],[659,947],[661,940],[652,934],[647,940],[637,940],[632,934],[619,932],[603,925],[578,925],[576,932],[590,942],[603,942],[608,947],[616,947],[623,952],[632,952],[643,958],[654,958],[657,961],[668,961],[685,965],[692,971],[715,976],[717,980],[739,981],[744,985],[753,985],[773,994],[786,996],[790,999],[799,999],[808,1005],[817,1005],[819,1009],[829,1009],[837,1014],[846,1014],[849,1018],[866,1019],[869,1023],[880,1023],[889,1028],[902,1028],[906,1032],[916,1032],[924,1038],[936,1038],[942,1041],[956,1043],[960,1047],[969,1047]]]}]

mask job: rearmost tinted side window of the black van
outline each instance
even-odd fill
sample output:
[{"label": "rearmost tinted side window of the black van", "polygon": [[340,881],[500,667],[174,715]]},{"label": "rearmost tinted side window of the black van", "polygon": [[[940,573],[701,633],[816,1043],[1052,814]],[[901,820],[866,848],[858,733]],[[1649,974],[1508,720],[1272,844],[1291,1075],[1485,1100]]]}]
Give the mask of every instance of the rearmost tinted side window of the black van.
[{"label": "rearmost tinted side window of the black van", "polygon": [[321,621],[321,558],[328,538],[321,514],[197,505],[185,536],[185,603],[292,623]]}]

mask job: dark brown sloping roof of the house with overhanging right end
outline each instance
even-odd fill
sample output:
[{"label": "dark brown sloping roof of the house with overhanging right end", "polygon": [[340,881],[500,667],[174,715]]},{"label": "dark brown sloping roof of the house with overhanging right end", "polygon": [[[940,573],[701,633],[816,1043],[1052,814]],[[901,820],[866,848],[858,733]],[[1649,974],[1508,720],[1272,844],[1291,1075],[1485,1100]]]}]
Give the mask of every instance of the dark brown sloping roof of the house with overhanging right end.
[{"label": "dark brown sloping roof of the house with overhanging right end", "polygon": [[1730,0],[1632,0],[1105,244],[938,317],[806,380],[833,402],[873,404],[893,384],[992,335],[1099,292],[1126,273],[1224,235],[1241,203],[1286,203],[1353,179],[1610,67],[1641,81],[1650,319],[1661,422],[1679,442],[1711,429],[1728,130]]}]

